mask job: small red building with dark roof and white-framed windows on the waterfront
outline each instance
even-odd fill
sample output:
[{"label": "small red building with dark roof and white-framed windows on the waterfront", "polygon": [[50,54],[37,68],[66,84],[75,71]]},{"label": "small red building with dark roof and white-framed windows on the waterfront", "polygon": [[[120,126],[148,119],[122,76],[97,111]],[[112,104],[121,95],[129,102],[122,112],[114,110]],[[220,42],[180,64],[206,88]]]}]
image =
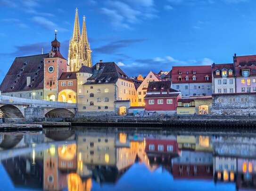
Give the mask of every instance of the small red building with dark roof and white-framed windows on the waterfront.
[{"label": "small red building with dark roof and white-framed windows on the waterfront", "polygon": [[171,81],[149,82],[145,100],[145,111],[175,112],[178,100],[181,99],[179,91],[171,88]]}]

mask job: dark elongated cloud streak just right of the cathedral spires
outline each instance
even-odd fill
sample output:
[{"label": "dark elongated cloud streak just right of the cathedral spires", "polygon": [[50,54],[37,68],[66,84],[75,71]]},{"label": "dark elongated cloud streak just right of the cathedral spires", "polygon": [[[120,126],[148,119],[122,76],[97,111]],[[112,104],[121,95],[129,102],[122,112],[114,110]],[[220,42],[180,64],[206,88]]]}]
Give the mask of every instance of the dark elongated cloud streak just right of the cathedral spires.
[{"label": "dark elongated cloud streak just right of the cathedral spires", "polygon": [[104,53],[104,54],[111,54],[116,53],[118,50],[131,46],[135,43],[140,43],[145,41],[146,39],[124,39],[124,40],[118,40],[114,42],[110,42],[107,45],[100,46],[98,48],[95,48],[93,51],[95,53]]}]

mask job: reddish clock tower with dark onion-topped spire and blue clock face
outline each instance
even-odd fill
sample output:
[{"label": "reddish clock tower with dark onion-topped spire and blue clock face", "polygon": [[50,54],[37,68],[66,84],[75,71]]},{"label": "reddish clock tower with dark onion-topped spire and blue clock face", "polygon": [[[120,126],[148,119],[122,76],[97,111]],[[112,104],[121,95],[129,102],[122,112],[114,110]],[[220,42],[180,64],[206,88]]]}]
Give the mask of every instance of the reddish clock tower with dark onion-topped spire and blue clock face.
[{"label": "reddish clock tower with dark onion-topped spire and blue clock face", "polygon": [[67,60],[61,55],[60,42],[55,39],[51,42],[49,57],[44,59],[44,100],[58,101],[58,78],[67,71]]}]

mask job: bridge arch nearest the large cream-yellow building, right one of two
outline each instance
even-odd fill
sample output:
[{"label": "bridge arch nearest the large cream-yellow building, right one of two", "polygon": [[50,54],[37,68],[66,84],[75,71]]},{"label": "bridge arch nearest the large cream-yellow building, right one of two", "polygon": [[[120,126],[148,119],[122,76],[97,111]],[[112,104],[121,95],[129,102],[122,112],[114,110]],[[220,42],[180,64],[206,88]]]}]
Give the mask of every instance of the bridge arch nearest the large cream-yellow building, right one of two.
[{"label": "bridge arch nearest the large cream-yellow building, right one of two", "polygon": [[75,111],[74,109],[68,108],[55,108],[50,109],[45,112],[45,117],[47,118],[58,118],[58,117],[74,117]]}]

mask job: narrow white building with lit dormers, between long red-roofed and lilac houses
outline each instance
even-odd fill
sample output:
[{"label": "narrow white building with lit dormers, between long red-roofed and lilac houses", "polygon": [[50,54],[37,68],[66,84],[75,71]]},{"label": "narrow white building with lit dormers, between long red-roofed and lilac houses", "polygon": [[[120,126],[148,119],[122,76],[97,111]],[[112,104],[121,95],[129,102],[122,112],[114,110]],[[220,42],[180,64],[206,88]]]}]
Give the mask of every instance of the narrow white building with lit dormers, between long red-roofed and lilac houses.
[{"label": "narrow white building with lit dormers, between long red-roofed and lilac houses", "polygon": [[236,79],[233,64],[212,65],[213,93],[235,93]]}]

